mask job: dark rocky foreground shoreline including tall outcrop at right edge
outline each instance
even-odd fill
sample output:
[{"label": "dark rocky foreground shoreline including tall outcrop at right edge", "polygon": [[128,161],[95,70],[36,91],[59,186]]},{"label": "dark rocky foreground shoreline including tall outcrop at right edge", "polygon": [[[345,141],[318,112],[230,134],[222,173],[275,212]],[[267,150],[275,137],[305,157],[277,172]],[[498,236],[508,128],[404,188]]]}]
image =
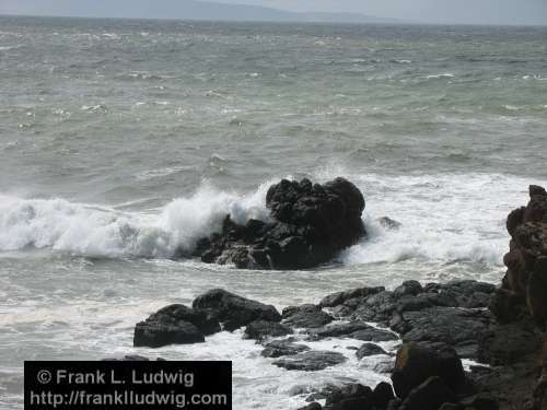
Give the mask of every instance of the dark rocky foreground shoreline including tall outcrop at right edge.
[{"label": "dark rocky foreground shoreline including tall outcrop at right edge", "polygon": [[[337,180],[349,187],[350,183]],[[352,339],[362,344],[348,354],[360,360],[386,356],[393,387],[337,386],[310,395],[302,409],[547,409],[547,355],[542,352],[547,318],[547,192],[531,186],[529,195],[529,203],[508,218],[509,270],[499,289],[473,280],[405,281],[393,291],[363,286],[281,313],[216,289],[198,296],[191,307],[166,306],[137,324],[135,347],[203,342],[208,335],[245,328],[244,338],[260,343],[261,355],[271,358],[272,365],[313,372],[347,358],[312,350],[299,340]],[[224,244],[223,251],[233,255],[234,243]],[[245,255],[256,250],[255,245],[245,245]],[[397,340],[400,347],[393,364],[391,353],[376,343]],[[481,364],[465,372],[462,359]]]}]

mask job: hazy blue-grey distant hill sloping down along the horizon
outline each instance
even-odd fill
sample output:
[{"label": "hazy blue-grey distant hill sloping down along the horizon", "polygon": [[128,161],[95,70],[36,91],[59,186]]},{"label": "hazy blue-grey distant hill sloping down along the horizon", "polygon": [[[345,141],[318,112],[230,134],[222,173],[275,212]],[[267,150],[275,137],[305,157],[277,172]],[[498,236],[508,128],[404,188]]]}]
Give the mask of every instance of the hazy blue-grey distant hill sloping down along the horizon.
[{"label": "hazy blue-grey distant hill sloping down along the horizon", "polygon": [[258,22],[397,22],[352,13],[295,13],[258,5],[196,0],[8,0],[0,1],[0,14]]}]

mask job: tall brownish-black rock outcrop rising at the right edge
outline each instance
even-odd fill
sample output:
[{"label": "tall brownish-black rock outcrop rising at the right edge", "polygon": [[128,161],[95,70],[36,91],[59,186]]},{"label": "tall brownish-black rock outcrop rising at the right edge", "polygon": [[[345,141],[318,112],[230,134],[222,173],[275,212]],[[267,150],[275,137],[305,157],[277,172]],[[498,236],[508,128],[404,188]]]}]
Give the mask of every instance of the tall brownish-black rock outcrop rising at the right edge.
[{"label": "tall brownish-black rock outcrop rising at the right edge", "polygon": [[547,320],[547,192],[535,185],[528,190],[528,204],[508,216],[511,242],[503,258],[508,271],[490,304],[502,324],[524,316]]}]

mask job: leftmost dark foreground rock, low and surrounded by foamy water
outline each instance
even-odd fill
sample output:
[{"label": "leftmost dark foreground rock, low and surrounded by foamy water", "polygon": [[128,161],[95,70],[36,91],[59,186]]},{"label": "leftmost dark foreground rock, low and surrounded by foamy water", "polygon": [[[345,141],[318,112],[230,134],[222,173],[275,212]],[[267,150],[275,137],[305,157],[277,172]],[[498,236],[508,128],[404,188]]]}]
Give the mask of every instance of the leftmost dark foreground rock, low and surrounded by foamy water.
[{"label": "leftmost dark foreground rock, low and surrounded by foamy water", "polygon": [[161,308],[135,327],[133,345],[160,348],[167,344],[199,343],[206,335],[220,331],[220,324],[210,313],[184,305]]}]

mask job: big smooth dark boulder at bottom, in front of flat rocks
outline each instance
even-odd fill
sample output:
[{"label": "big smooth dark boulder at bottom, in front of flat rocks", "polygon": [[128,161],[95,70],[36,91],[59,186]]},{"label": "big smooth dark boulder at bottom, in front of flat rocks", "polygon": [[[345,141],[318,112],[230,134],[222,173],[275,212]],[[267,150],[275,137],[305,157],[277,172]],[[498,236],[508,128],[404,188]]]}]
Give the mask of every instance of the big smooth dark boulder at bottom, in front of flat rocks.
[{"label": "big smooth dark boulder at bottom, in front of flat rocks", "polygon": [[397,397],[405,399],[412,389],[430,377],[440,377],[453,391],[458,391],[465,386],[464,368],[455,350],[444,348],[435,351],[418,343],[403,344],[397,351],[392,374]]}]

